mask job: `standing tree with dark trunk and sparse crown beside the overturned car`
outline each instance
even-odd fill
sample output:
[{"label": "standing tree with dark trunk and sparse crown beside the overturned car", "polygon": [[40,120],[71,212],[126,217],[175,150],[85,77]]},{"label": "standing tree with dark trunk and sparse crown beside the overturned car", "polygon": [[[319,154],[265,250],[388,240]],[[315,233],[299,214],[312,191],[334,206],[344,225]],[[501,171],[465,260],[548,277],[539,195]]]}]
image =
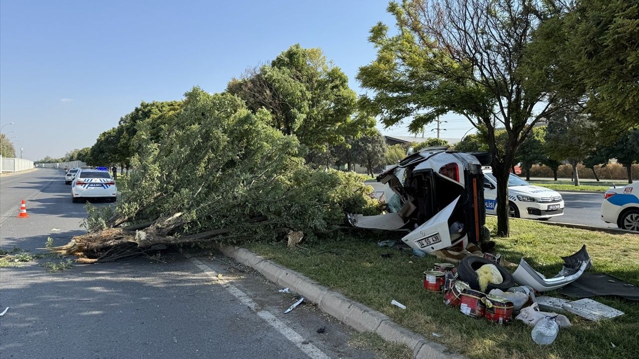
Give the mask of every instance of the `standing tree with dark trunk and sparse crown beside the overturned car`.
[{"label": "standing tree with dark trunk and sparse crown beside the overturned car", "polygon": [[[412,118],[417,133],[455,112],[488,141],[497,178],[497,234],[509,235],[508,176],[535,123],[553,111],[549,59],[528,51],[544,8],[527,0],[405,0],[390,2],[397,34],[377,24],[369,41],[376,59],[357,79],[374,95],[360,107],[385,126]],[[498,146],[496,128],[505,130]]]}]

